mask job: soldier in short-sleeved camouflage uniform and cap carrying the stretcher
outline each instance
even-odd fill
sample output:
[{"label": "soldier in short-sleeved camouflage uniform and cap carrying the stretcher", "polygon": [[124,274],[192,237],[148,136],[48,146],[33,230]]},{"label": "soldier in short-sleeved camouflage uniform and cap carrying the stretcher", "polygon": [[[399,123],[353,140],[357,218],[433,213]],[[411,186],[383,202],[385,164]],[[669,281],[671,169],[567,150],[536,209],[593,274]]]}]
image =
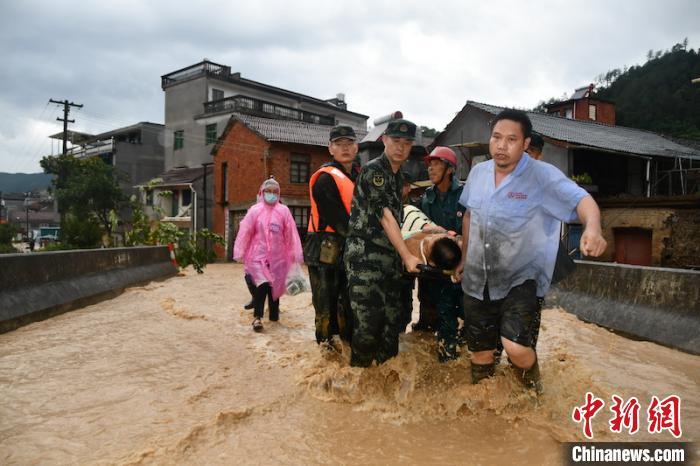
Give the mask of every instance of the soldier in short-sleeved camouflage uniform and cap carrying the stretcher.
[{"label": "soldier in short-sleeved camouflage uniform and cap carrying the stretcher", "polygon": [[382,363],[399,350],[402,261],[417,272],[420,260],[401,236],[401,164],[408,158],[416,125],[394,120],[382,141],[384,153],[369,162],[357,178],[352,199],[345,270],[353,314],[353,366]]}]

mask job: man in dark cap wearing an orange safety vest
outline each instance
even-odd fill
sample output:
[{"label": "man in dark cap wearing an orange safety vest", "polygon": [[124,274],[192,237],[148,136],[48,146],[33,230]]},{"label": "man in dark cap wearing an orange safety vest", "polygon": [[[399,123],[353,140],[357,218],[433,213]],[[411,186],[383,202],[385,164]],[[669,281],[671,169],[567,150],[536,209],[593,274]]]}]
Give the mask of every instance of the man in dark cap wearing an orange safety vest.
[{"label": "man in dark cap wearing an orange safety vest", "polygon": [[343,250],[350,218],[358,146],[350,126],[331,129],[328,151],[333,161],[324,164],[309,180],[311,216],[304,244],[316,311],[316,341],[326,351],[340,350],[338,335],[348,343],[352,337],[352,311]]}]

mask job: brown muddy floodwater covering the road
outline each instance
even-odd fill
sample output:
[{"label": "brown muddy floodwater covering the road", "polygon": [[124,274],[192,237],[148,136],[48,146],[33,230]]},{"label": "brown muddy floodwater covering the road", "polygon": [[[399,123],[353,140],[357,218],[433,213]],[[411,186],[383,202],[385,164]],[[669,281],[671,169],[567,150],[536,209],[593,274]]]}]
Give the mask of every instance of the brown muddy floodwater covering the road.
[{"label": "brown muddy floodwater covering the road", "polygon": [[[538,403],[505,358],[472,386],[465,354],[439,364],[432,335],[407,333],[398,357],[351,368],[348,348],[320,354],[310,293],[260,334],[248,300],[242,266],[215,264],[0,335],[0,463],[561,464],[586,392],[606,402],[596,441],[673,440],[646,430],[672,394],[700,441],[699,356],[561,309],[542,316]],[[636,435],[610,432],[613,394],[640,400]]]}]

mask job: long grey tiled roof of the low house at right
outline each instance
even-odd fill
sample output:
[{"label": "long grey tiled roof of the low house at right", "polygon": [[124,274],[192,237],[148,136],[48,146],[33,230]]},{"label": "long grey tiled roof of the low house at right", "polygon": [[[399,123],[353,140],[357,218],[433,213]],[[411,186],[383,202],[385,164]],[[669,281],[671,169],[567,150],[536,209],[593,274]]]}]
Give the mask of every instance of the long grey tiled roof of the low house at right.
[{"label": "long grey tiled roof of the low house at right", "polygon": [[[473,101],[467,101],[466,106],[478,108],[492,115],[504,109]],[[527,115],[532,121],[533,131],[559,141],[614,152],[700,160],[699,151],[650,131],[594,121],[572,120],[544,113],[527,112]]]}]

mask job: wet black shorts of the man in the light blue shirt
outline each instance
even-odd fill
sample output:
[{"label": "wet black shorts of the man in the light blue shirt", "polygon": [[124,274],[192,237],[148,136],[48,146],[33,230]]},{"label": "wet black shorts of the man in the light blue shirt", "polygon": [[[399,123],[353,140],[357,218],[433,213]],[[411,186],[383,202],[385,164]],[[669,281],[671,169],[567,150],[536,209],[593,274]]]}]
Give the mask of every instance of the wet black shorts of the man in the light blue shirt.
[{"label": "wet black shorts of the man in the light blue shirt", "polygon": [[537,284],[526,280],[511,288],[503,299],[491,301],[488,285],[484,300],[464,295],[464,317],[469,351],[496,349],[504,337],[523,346],[534,346],[540,322]]}]

